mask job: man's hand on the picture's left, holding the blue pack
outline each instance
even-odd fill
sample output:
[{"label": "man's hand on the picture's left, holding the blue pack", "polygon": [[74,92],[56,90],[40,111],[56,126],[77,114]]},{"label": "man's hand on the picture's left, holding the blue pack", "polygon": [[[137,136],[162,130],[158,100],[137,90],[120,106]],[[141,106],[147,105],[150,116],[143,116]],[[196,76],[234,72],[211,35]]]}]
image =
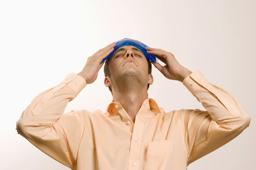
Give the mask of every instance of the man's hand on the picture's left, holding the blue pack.
[{"label": "man's hand on the picture's left, holding the blue pack", "polygon": [[116,44],[110,44],[107,47],[98,50],[92,56],[89,56],[83,70],[77,75],[82,76],[85,79],[86,84],[93,83],[98,76],[99,69],[105,63],[105,61],[102,63],[100,62],[114,50],[115,46]]}]

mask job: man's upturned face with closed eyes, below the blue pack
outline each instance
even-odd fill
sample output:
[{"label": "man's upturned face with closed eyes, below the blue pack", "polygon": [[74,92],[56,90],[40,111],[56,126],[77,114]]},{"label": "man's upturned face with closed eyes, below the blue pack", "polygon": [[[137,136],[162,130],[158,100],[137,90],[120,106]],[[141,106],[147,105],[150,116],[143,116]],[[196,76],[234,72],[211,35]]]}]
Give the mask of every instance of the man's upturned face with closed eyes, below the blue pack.
[{"label": "man's upturned face with closed eyes, below the blue pack", "polygon": [[109,59],[109,72],[113,81],[133,77],[147,85],[149,79],[147,59],[134,46],[122,46],[113,53]]}]

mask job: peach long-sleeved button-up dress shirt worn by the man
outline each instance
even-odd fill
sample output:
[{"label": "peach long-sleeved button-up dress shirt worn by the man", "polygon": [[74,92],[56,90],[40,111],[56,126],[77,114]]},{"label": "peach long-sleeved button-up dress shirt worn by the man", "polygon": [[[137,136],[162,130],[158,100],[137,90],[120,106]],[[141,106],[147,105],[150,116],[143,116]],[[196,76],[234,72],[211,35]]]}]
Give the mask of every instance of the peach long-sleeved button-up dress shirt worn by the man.
[{"label": "peach long-sleeved button-up dress shirt worn by the man", "polygon": [[106,111],[71,110],[68,103],[86,86],[69,73],[39,95],[16,122],[18,134],[71,169],[182,169],[225,145],[250,124],[237,99],[211,84],[199,70],[183,85],[207,111],[165,112],[153,98],[140,107],[135,123],[119,102]]}]

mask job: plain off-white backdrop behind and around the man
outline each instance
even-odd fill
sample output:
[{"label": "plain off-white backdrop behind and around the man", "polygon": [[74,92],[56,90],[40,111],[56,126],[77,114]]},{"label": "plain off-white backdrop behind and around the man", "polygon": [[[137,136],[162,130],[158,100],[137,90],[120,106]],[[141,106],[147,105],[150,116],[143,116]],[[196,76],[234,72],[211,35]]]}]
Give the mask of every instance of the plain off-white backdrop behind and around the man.
[{"label": "plain off-white backdrop behind and around the man", "polygon": [[[253,0],[1,1],[1,169],[69,169],[17,134],[16,121],[37,94],[79,73],[88,56],[123,38],[172,52],[191,72],[200,70],[231,92],[251,117],[244,132],[189,170],[255,169],[255,9]],[[106,111],[112,95],[103,67],[65,112]],[[165,112],[206,110],[182,82],[153,65],[152,75],[149,97]]]}]

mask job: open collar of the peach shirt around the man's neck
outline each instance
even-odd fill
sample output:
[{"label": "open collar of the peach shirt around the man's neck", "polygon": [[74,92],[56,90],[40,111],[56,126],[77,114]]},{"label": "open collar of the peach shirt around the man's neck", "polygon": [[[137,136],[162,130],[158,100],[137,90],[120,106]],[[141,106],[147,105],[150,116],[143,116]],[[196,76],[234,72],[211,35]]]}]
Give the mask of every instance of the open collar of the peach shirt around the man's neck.
[{"label": "open collar of the peach shirt around the man's neck", "polygon": [[[107,115],[112,115],[120,110],[120,107],[122,105],[119,102],[111,102],[106,109]],[[143,102],[142,107],[146,107],[148,110],[152,111],[155,115],[161,114],[161,109],[158,106],[157,102],[153,100],[153,98],[146,98],[146,100]]]}]

